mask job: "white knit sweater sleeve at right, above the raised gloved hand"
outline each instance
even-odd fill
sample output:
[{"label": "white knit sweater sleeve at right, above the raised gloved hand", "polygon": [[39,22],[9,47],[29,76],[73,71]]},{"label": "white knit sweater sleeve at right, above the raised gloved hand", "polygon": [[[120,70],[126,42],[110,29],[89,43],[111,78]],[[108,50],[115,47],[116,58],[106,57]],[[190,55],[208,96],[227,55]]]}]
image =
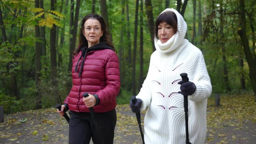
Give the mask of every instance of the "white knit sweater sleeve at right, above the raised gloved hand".
[{"label": "white knit sweater sleeve at right, above the raised gloved hand", "polygon": [[210,77],[207,72],[202,52],[199,52],[198,67],[195,73],[196,75],[191,82],[195,84],[196,91],[193,95],[189,95],[188,99],[191,101],[202,101],[203,99],[208,98],[212,92],[212,85],[210,83]]}]

